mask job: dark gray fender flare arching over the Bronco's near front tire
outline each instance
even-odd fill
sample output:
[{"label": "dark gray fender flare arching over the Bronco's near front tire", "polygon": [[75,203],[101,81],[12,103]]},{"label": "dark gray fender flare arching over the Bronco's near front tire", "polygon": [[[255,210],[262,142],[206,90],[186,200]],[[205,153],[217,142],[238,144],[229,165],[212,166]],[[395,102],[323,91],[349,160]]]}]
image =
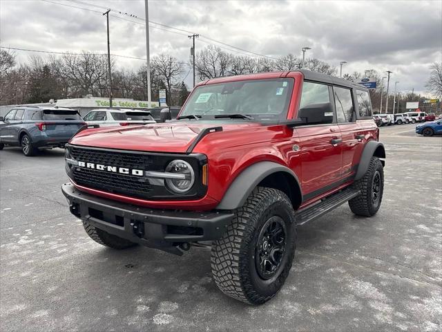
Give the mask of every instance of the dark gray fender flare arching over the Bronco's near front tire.
[{"label": "dark gray fender flare arching over the Bronco's near front tire", "polygon": [[[300,187],[298,177],[291,169],[272,161],[261,161],[244,169],[233,180],[216,210],[235,210],[240,208],[244,205],[253,189],[267,176],[276,172],[286,172],[293,176]],[[302,197],[300,199],[302,201]]]}]

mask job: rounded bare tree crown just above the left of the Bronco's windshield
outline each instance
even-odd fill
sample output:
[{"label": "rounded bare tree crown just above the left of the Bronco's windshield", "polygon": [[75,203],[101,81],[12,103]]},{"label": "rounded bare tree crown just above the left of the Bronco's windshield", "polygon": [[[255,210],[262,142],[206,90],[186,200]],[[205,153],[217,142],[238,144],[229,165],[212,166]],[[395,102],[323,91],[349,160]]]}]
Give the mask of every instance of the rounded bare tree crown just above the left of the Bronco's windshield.
[{"label": "rounded bare tree crown just above the left of the Bronco's windshield", "polygon": [[231,67],[231,55],[219,47],[209,45],[195,59],[195,68],[200,80],[224,76]]}]

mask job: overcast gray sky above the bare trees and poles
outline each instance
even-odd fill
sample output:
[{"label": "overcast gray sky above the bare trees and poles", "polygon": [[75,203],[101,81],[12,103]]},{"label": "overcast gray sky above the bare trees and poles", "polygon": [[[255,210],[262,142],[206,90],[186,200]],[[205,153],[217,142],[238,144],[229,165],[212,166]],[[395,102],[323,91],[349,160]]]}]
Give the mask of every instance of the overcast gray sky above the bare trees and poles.
[{"label": "overcast gray sky above the bare trees and poles", "polygon": [[[106,19],[100,13],[105,10],[86,6],[83,2],[127,12],[128,15],[113,12],[119,18],[110,17],[111,53],[146,56],[145,27],[142,25],[144,0],[48,1],[0,0],[1,46],[105,53]],[[138,19],[130,15],[136,15]],[[149,0],[151,22],[202,35],[196,42],[197,51],[211,43],[207,38],[270,57],[287,53],[300,57],[302,46],[310,46],[309,57],[336,67],[340,61],[347,61],[343,73],[372,68],[390,70],[393,71],[390,82],[400,81],[399,91],[414,88],[418,93],[425,91],[430,64],[442,61],[441,17],[440,0]],[[191,46],[189,34],[160,29],[164,26],[153,24],[150,28],[151,56],[167,53],[187,62]],[[26,62],[30,54],[17,51],[17,59]],[[143,62],[117,58],[117,64],[136,69]],[[186,82],[191,83],[191,75]]]}]

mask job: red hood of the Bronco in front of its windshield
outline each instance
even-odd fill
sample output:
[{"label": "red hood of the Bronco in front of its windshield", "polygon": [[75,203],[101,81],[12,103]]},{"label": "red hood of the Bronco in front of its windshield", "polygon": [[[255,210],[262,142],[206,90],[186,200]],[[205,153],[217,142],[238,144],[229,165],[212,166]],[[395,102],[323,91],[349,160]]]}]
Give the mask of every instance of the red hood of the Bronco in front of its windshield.
[{"label": "red hood of the Bronco in front of its windshield", "polygon": [[[185,153],[198,134],[212,127],[222,127],[223,131],[260,127],[258,123],[220,123],[207,121],[169,122],[143,126],[87,129],[70,140],[70,144],[110,149]],[[215,133],[211,133],[212,135]]]}]

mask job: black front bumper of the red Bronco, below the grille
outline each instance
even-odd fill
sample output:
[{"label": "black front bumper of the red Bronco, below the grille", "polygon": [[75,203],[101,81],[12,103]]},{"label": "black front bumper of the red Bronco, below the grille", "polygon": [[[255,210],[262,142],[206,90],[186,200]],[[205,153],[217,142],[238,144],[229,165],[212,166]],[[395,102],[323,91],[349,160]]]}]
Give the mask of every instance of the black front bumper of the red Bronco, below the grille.
[{"label": "black front bumper of the red Bronco, below the grille", "polygon": [[70,183],[62,185],[61,192],[70,212],[90,225],[175,254],[180,254],[175,248],[180,243],[220,239],[233,219],[229,212],[155,210],[120,203],[80,192]]}]

